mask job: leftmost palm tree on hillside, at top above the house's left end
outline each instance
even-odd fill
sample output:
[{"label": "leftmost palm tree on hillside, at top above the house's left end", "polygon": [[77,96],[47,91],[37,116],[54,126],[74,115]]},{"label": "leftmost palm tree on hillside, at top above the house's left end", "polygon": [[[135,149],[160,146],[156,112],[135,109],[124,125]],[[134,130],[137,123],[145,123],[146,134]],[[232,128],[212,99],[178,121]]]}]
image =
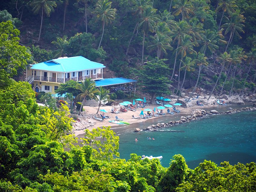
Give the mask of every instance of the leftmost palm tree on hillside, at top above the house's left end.
[{"label": "leftmost palm tree on hillside, at top above the house's left end", "polygon": [[40,40],[42,23],[43,23],[43,14],[45,13],[47,17],[50,17],[50,13],[54,11],[54,7],[57,7],[55,1],[49,0],[35,0],[30,4],[33,7],[33,13],[38,14],[41,11],[41,26],[38,41]]}]

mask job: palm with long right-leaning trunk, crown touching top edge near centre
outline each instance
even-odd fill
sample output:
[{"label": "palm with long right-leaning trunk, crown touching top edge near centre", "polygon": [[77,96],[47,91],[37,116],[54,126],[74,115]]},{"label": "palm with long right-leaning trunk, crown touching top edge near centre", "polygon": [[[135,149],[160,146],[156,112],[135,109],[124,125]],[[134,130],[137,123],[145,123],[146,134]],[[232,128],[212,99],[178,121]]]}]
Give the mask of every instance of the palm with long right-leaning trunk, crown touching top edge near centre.
[{"label": "palm with long right-leaning trunk, crown touching top edge near centre", "polygon": [[[143,14],[144,8],[147,5],[152,5],[152,2],[150,0],[136,0],[135,3],[136,3],[137,9],[136,9],[136,11],[134,11],[134,15],[135,15],[136,19],[138,20],[138,19],[142,18],[142,14]],[[136,29],[137,29],[138,24],[139,24],[139,22],[137,21],[137,23],[136,23],[136,25],[134,27],[134,30],[133,30],[133,35],[134,35],[134,33],[135,33]],[[127,47],[125,55],[128,54],[128,50],[129,50],[131,41],[133,39],[133,35],[132,35],[132,37],[131,37],[131,39],[129,41],[129,44],[128,44],[128,47]]]}]

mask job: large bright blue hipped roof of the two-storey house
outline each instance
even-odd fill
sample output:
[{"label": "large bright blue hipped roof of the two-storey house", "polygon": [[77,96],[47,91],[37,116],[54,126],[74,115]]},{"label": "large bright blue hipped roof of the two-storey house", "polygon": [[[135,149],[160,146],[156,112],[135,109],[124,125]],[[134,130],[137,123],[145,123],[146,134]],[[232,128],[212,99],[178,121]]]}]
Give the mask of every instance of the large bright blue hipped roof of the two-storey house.
[{"label": "large bright blue hipped roof of the two-storey house", "polygon": [[37,63],[37,64],[34,64],[30,69],[57,71],[57,72],[70,72],[70,71],[100,69],[104,67],[105,66],[101,63],[91,61],[82,56],[77,56],[77,57],[63,57],[59,59],[52,59],[42,63]]}]

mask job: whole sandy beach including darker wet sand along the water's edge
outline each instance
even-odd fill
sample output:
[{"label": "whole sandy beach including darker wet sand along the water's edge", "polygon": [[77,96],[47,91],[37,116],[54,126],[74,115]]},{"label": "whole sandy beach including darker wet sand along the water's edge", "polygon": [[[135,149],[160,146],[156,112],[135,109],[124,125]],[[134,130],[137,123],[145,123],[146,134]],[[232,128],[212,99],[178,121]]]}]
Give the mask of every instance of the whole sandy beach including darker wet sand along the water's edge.
[{"label": "whole sandy beach including darker wet sand along the water's edge", "polygon": [[[237,96],[234,96],[234,98],[237,98]],[[232,98],[231,98],[232,99]],[[231,100],[230,99],[230,100]],[[86,129],[88,129],[89,131],[91,131],[92,129],[94,128],[97,128],[97,127],[107,127],[107,126],[111,126],[111,129],[115,132],[116,130],[127,130],[127,129],[133,129],[133,128],[136,128],[136,126],[140,126],[140,127],[143,127],[143,124],[145,124],[145,126],[149,123],[157,123],[159,121],[162,121],[162,119],[164,120],[167,120],[167,119],[176,119],[176,120],[180,120],[180,117],[181,116],[187,116],[187,115],[190,115],[193,113],[193,111],[196,111],[196,110],[200,110],[200,109],[204,109],[204,110],[220,110],[219,112],[222,112],[221,110],[225,110],[225,109],[228,109],[229,107],[233,108],[233,107],[244,107],[245,105],[234,105],[234,104],[228,104],[227,106],[220,106],[219,104],[215,104],[215,101],[216,101],[216,98],[213,97],[211,98],[209,101],[204,101],[206,100],[205,97],[204,99],[199,99],[200,102],[202,102],[204,104],[204,106],[198,106],[196,105],[196,101],[191,101],[193,106],[192,107],[188,107],[188,108],[184,108],[184,107],[179,107],[179,110],[181,111],[180,113],[175,113],[174,115],[170,115],[168,113],[166,113],[166,115],[164,116],[161,116],[160,117],[152,117],[152,118],[149,118],[149,119],[132,119],[132,115],[138,117],[139,116],[139,113],[141,112],[142,108],[137,108],[136,112],[133,112],[133,111],[127,111],[126,113],[124,112],[120,112],[119,114],[114,114],[114,113],[110,113],[111,111],[111,108],[113,106],[102,106],[100,107],[100,109],[105,109],[106,111],[108,111],[108,113],[105,113],[106,116],[110,116],[110,119],[105,119],[104,122],[101,122],[101,121],[97,121],[94,119],[94,125],[92,126],[89,126],[87,127]],[[229,101],[230,101],[229,100]],[[228,102],[228,101],[227,101]],[[194,104],[195,103],[195,104]],[[249,106],[250,104],[248,104]],[[116,108],[119,108],[121,106],[116,106]],[[149,109],[154,109],[154,107],[159,107],[159,105],[150,105],[150,106],[146,106],[145,108],[149,108]],[[95,113],[97,112],[98,110],[98,107],[87,107],[85,106],[84,107],[85,109],[85,113],[87,116],[85,116],[85,118],[88,118],[88,115],[92,116],[92,115],[95,115]],[[171,110],[172,111],[172,110]],[[101,112],[103,113],[103,112]],[[165,110],[164,110],[164,113],[165,113]],[[118,118],[120,119],[124,119],[124,121],[126,122],[129,122],[130,125],[127,126],[127,125],[117,125],[117,124],[113,124],[111,122],[108,122],[109,120],[115,120],[115,116],[117,116]],[[80,116],[79,116],[80,118]],[[156,120],[156,119],[159,119],[159,120]],[[92,122],[92,119],[89,120],[90,122]],[[118,128],[118,129],[116,129]],[[81,129],[81,130],[75,130],[74,131],[74,134],[75,136],[82,136],[84,134],[84,129]]]}]

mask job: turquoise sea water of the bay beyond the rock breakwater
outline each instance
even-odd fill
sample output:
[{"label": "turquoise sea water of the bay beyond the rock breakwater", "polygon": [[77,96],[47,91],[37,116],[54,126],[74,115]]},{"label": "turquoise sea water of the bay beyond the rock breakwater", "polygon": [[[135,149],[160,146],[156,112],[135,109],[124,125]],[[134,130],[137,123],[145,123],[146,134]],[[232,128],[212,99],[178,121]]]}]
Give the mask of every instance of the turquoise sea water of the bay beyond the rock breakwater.
[{"label": "turquoise sea water of the bay beyond the rock breakwater", "polygon": [[[164,167],[169,166],[175,154],[182,154],[191,169],[204,159],[218,165],[223,161],[232,165],[256,162],[256,111],[207,116],[156,132],[135,133],[127,130],[119,137],[120,158],[130,159],[130,153],[162,155],[161,164]],[[148,140],[147,137],[155,140]]]}]

